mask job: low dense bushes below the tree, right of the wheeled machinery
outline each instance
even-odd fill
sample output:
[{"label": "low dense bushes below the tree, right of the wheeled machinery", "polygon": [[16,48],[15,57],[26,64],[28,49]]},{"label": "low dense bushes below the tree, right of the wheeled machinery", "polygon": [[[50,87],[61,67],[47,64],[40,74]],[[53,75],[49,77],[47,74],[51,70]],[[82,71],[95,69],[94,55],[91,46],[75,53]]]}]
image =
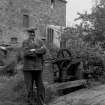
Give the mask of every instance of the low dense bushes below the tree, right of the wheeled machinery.
[{"label": "low dense bushes below the tree, right of the wheeled machinery", "polygon": [[81,58],[83,62],[84,73],[89,72],[95,80],[104,77],[105,55],[102,49],[97,46],[86,44],[81,38],[71,39],[68,43],[68,49],[73,58]]}]

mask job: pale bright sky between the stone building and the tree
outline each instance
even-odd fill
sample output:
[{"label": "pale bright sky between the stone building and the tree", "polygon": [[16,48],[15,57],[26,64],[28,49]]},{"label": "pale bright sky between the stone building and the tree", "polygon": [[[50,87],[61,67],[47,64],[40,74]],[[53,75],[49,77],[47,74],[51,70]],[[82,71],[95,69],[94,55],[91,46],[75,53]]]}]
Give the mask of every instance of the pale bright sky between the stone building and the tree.
[{"label": "pale bright sky between the stone building and the tree", "polygon": [[74,19],[78,17],[77,12],[91,12],[93,0],[67,0],[66,6],[66,25],[75,24]]}]

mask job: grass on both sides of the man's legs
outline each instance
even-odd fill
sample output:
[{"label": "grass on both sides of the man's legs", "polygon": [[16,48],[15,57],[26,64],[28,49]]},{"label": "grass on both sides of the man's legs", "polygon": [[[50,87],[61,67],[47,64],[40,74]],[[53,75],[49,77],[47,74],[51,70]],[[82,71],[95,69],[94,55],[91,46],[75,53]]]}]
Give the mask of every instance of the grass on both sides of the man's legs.
[{"label": "grass on both sides of the man's legs", "polygon": [[[46,87],[46,103],[50,103],[56,96],[55,89]],[[15,76],[0,76],[0,105],[27,105],[26,91],[22,71]]]}]

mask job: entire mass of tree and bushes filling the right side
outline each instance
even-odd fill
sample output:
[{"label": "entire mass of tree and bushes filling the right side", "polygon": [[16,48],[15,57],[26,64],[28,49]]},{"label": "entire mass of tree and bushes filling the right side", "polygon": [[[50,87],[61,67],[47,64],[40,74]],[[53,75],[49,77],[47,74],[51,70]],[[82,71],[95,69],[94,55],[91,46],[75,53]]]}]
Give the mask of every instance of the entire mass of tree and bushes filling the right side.
[{"label": "entire mass of tree and bushes filling the right side", "polygon": [[[69,46],[70,50],[75,53],[75,56],[80,56],[87,61],[86,68],[93,72],[95,79],[104,78],[105,72],[105,1],[99,2],[92,8],[89,14],[78,13],[79,17],[75,20],[81,20],[76,28],[79,33],[77,40],[82,39],[83,44],[78,46],[72,39],[72,45]],[[86,32],[87,34],[84,34]],[[73,53],[73,54],[74,54]],[[97,62],[96,62],[97,61]]]}]

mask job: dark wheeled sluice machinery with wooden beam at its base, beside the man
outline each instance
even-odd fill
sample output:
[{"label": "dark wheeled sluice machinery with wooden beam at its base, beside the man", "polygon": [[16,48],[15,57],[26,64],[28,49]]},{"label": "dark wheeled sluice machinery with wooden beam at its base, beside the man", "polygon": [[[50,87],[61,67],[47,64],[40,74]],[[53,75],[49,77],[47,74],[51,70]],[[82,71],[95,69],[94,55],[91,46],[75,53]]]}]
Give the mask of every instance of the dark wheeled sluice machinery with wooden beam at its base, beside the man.
[{"label": "dark wheeled sluice machinery with wooden beam at its base, beside the man", "polygon": [[65,94],[66,90],[69,93],[86,84],[84,74],[79,68],[80,64],[80,58],[73,59],[68,49],[58,51],[56,58],[52,60],[54,83],[51,86],[59,94]]}]

